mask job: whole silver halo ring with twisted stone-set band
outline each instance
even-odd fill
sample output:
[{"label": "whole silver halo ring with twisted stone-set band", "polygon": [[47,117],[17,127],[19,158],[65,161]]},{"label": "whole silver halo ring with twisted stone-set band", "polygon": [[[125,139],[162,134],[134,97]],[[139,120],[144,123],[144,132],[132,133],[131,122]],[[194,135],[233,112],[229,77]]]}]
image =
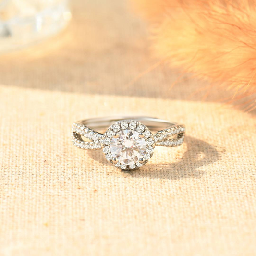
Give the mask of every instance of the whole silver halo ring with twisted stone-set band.
[{"label": "whole silver halo ring with twisted stone-set band", "polygon": [[93,118],[72,126],[75,146],[102,149],[109,162],[126,170],[145,165],[155,146],[180,146],[184,136],[185,125],[151,117]]}]

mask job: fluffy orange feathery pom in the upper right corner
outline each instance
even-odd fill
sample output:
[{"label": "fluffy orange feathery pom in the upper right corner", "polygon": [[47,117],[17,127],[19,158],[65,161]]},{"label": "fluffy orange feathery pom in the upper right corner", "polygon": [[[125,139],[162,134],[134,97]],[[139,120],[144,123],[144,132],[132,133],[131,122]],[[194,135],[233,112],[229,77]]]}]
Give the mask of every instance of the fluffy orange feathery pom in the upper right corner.
[{"label": "fluffy orange feathery pom in the upper right corner", "polygon": [[255,0],[133,1],[158,57],[236,95],[256,93]]}]

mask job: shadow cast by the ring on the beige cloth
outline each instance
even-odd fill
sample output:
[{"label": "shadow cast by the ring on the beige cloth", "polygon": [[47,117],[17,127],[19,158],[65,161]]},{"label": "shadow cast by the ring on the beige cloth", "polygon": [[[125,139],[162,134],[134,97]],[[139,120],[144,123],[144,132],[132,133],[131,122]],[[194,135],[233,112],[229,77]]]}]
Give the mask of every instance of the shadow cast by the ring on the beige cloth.
[{"label": "shadow cast by the ring on the beige cloth", "polygon": [[[123,173],[129,174],[131,177],[149,177],[158,179],[187,179],[187,178],[201,178],[205,175],[206,171],[200,169],[202,166],[207,166],[220,159],[220,154],[216,148],[209,143],[196,139],[194,137],[187,136],[185,139],[187,150],[183,154],[180,160],[171,163],[159,163],[151,164],[150,162],[145,166],[135,169],[134,171],[125,171]],[[165,148],[167,156],[170,156],[171,149]],[[98,155],[96,151],[88,151],[89,156],[94,160],[106,163],[106,159],[103,154]],[[178,152],[178,157],[179,157]]]}]

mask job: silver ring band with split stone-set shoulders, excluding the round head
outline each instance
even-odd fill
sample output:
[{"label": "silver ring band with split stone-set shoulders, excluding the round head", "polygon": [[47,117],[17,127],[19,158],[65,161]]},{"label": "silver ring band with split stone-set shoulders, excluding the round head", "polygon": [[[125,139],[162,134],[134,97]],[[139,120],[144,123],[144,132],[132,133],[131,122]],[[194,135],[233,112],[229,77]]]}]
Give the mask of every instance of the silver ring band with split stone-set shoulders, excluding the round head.
[{"label": "silver ring band with split stone-set shoulders, excluding the round head", "polygon": [[[83,149],[101,149],[101,139],[103,134],[97,130],[108,128],[115,122],[121,120],[136,120],[146,125],[151,132],[155,131],[154,138],[156,146],[180,146],[185,135],[185,126],[168,122],[152,117],[104,117],[86,119],[73,124],[72,140],[75,146]],[[82,136],[89,141],[84,141]],[[173,138],[175,136],[175,138]]]}]

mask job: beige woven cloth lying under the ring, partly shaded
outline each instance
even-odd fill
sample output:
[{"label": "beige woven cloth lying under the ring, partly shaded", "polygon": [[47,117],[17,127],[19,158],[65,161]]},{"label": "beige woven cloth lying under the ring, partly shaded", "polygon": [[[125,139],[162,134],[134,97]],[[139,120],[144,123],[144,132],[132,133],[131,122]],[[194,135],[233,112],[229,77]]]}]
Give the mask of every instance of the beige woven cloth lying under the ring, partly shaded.
[{"label": "beige woven cloth lying under the ring, partly shaded", "polygon": [[[75,1],[61,35],[0,57],[1,256],[256,255],[256,121],[150,58],[120,0]],[[112,114],[186,124],[121,172],[70,141],[72,122]]]}]

